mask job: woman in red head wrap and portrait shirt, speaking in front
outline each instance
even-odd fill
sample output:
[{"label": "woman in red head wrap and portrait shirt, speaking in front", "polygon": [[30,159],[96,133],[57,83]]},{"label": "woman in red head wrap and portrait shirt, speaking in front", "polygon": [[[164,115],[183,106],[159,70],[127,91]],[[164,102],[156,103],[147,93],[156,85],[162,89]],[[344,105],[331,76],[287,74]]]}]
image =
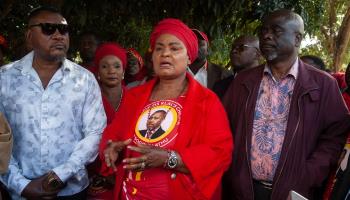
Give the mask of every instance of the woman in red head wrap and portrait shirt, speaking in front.
[{"label": "woman in red head wrap and portrait shirt, speaking in front", "polygon": [[189,74],[198,52],[183,22],[165,19],[150,45],[156,78],[130,89],[100,143],[114,199],[210,199],[232,157],[220,100]]}]

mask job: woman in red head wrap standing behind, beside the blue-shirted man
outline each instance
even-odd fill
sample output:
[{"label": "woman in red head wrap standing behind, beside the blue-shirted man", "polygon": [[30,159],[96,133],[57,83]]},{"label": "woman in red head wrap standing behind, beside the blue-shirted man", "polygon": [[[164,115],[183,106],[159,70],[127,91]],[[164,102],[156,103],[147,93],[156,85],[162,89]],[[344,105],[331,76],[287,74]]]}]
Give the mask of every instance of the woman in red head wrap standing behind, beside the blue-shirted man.
[{"label": "woman in red head wrap standing behind, beside the blue-shirted man", "polygon": [[[126,51],[116,43],[105,43],[95,53],[97,79],[100,83],[102,102],[110,124],[124,99],[125,87],[122,84],[127,63]],[[112,199],[114,176],[100,175],[99,158],[89,165],[90,186],[88,199]]]}]

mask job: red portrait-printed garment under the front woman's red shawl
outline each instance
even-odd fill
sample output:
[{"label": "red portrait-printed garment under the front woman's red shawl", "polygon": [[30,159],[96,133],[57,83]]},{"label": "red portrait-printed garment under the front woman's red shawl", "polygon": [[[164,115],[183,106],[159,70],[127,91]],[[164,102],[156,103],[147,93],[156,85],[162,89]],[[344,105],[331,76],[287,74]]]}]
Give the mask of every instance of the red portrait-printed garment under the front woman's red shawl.
[{"label": "red portrait-printed garment under the front woman's red shawl", "polygon": [[[137,120],[133,144],[172,149],[178,135],[184,99],[185,96],[180,96],[148,102]],[[164,119],[160,121],[161,116],[164,116]],[[126,151],[129,151],[126,153],[131,157],[140,156],[137,152],[128,149]],[[129,171],[123,182],[121,198],[127,196],[125,199],[170,199],[168,177],[171,173],[171,170],[164,168],[152,168],[142,172]]]}]

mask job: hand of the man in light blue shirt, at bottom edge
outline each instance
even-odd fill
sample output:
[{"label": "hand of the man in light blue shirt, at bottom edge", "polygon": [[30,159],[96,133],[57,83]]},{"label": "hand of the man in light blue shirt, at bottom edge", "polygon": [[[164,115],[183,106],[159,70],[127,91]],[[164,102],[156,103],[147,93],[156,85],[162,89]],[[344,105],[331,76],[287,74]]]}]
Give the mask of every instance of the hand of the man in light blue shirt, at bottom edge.
[{"label": "hand of the man in light blue shirt, at bottom edge", "polygon": [[23,189],[21,196],[27,199],[55,199],[59,190],[45,191],[43,182],[47,179],[48,174],[32,180]]}]

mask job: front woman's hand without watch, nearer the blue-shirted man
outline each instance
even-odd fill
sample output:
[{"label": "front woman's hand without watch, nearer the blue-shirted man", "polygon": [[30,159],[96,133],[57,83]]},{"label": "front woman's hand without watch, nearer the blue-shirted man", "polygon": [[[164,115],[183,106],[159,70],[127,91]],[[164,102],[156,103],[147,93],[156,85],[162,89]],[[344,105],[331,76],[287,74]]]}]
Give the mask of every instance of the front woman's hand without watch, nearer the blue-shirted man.
[{"label": "front woman's hand without watch, nearer the blue-shirted man", "polygon": [[115,162],[118,160],[119,152],[121,152],[127,145],[129,145],[131,141],[131,139],[117,142],[108,140],[107,148],[103,152],[107,167],[112,167],[114,171],[117,171]]}]

